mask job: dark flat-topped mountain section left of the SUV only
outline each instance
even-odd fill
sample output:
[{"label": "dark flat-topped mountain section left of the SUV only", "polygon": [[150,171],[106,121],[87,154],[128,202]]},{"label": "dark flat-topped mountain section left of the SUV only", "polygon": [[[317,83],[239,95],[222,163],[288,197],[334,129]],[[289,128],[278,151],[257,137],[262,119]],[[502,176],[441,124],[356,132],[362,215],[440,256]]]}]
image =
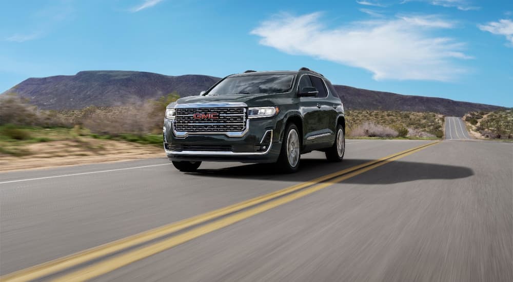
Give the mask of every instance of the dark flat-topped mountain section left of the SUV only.
[{"label": "dark flat-topped mountain section left of the SUV only", "polygon": [[130,99],[153,99],[176,91],[198,95],[220,78],[207,75],[169,76],[140,71],[81,71],[75,75],[28,78],[5,93],[28,98],[41,109],[119,106]]}]

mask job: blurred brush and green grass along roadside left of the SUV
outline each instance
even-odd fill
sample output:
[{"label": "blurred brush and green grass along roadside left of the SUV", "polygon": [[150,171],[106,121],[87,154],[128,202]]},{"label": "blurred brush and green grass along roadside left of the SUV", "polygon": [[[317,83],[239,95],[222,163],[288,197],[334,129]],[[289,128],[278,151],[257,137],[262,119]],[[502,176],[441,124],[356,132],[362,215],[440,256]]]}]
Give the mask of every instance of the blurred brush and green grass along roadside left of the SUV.
[{"label": "blurred brush and green grass along roadside left of the SUV", "polygon": [[[40,110],[16,95],[0,97],[0,153],[33,155],[35,143],[65,142],[69,148],[101,153],[99,140],[123,140],[162,145],[165,108],[179,98],[170,93],[156,100],[133,100],[125,107],[87,107],[81,110]],[[96,140],[95,140],[96,139]]]}]

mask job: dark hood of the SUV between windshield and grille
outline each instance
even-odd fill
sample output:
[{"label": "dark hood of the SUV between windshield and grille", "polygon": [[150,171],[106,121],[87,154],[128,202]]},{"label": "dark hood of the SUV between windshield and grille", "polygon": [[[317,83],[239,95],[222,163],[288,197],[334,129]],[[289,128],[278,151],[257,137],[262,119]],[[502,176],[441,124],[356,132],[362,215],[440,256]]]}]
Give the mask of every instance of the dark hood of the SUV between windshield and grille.
[{"label": "dark hood of the SUV between windshield and grille", "polygon": [[246,103],[248,106],[273,106],[274,98],[279,94],[230,94],[230,95],[211,95],[211,96],[189,96],[177,99],[168,105],[174,107],[180,104],[196,103]]}]

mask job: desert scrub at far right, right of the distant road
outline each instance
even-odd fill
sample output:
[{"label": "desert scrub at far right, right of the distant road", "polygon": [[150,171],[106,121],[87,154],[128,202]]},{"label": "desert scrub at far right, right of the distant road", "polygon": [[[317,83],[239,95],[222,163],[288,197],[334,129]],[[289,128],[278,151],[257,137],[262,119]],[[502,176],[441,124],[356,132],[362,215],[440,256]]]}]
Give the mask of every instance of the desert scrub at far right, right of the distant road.
[{"label": "desert scrub at far right, right of the distant road", "polygon": [[481,138],[513,139],[513,110],[470,112],[464,117],[467,127]]}]

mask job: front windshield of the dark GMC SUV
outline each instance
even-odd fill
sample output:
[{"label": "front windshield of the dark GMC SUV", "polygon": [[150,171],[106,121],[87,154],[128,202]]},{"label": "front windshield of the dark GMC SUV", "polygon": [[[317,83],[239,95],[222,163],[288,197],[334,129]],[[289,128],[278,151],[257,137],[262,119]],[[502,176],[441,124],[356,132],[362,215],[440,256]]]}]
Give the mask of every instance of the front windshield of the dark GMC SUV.
[{"label": "front windshield of the dark GMC SUV", "polygon": [[293,75],[290,74],[265,74],[227,77],[208,95],[226,94],[274,94],[287,92],[292,87]]}]

